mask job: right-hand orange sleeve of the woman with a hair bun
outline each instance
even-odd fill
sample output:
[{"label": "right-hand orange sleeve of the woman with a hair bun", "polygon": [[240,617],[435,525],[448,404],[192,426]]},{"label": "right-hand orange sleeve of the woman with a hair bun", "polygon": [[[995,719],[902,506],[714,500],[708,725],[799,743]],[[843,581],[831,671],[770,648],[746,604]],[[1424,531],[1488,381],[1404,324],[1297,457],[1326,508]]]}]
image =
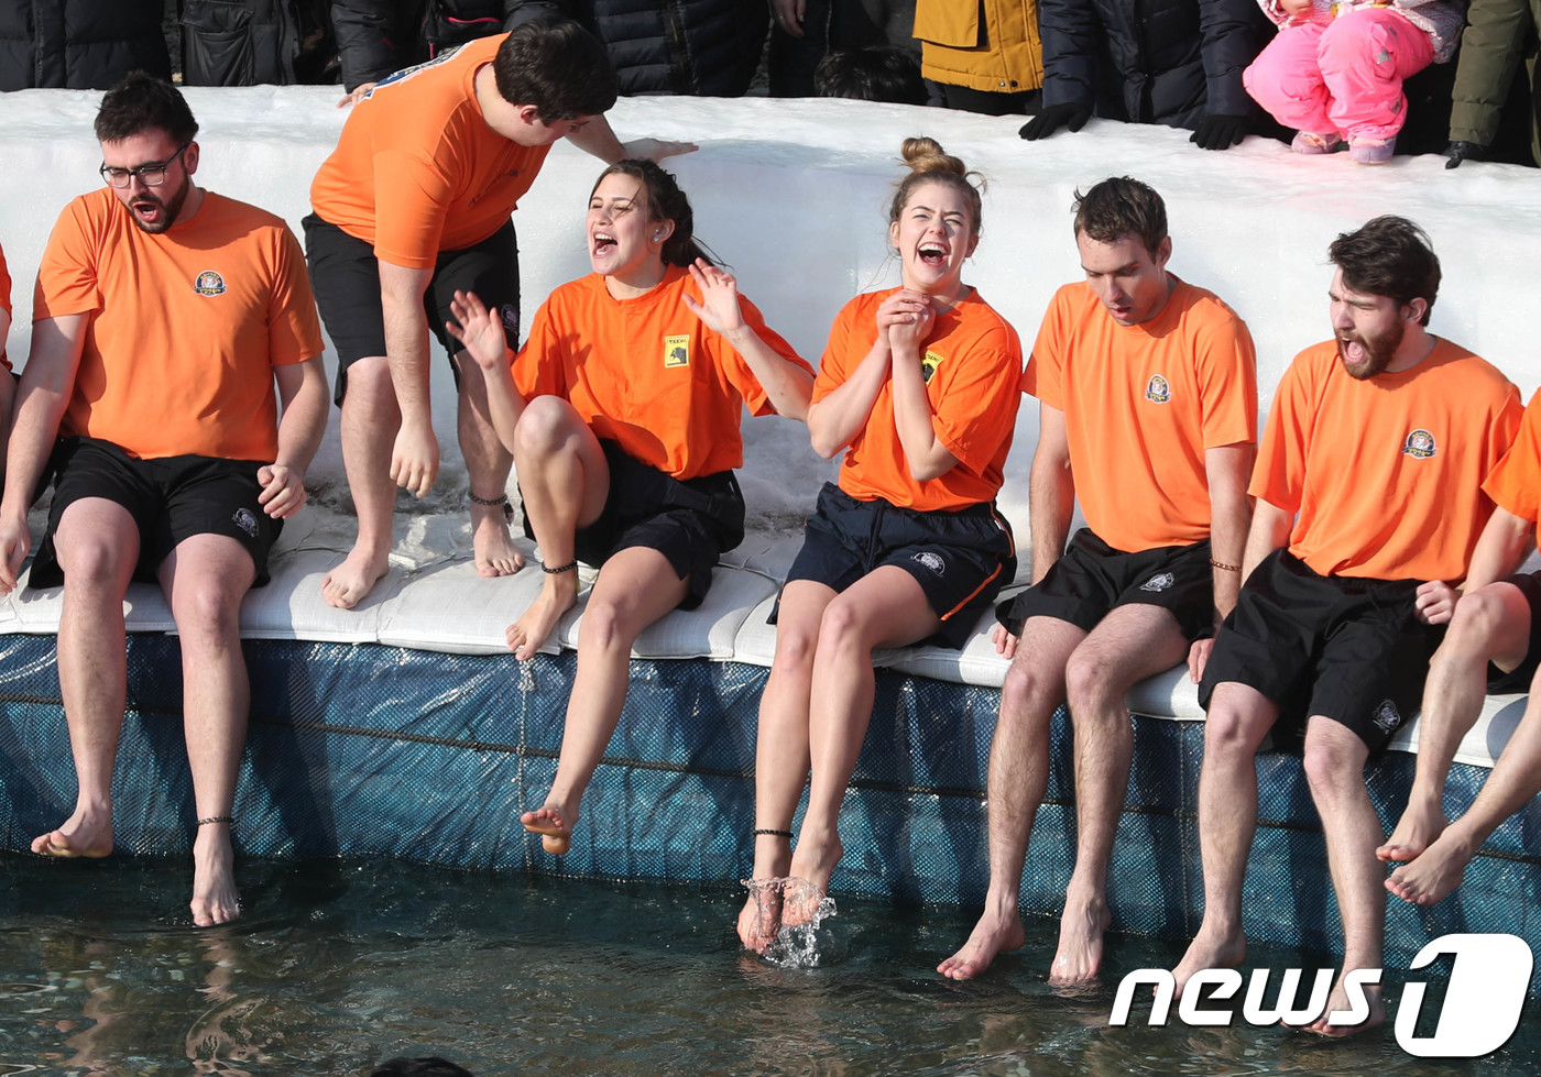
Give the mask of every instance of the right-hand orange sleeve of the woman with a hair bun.
[{"label": "right-hand orange sleeve of the woman with a hair bun", "polygon": [[1022,344],[1011,327],[997,324],[969,342],[959,359],[966,361],[937,367],[937,376],[946,381],[928,393],[931,425],[963,467],[983,475],[1017,427]]}]

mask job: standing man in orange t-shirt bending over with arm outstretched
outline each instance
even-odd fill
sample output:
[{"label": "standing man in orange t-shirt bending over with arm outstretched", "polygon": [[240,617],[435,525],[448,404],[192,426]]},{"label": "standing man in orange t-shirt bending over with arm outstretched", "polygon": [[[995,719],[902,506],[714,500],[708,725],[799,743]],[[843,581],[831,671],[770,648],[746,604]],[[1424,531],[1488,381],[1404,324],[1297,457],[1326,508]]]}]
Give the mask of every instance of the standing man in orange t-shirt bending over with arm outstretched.
[{"label": "standing man in orange t-shirt bending over with arm outstretched", "polygon": [[[504,487],[512,458],[487,418],[481,370],[444,331],[456,290],[519,330],[519,253],[509,219],[561,137],[606,162],[689,143],[621,145],[604,46],[573,22],[535,18],[354,94],[337,148],[311,183],[305,248],[337,350],[342,462],[359,518],[348,556],[322,581],[353,609],[390,570],[396,488],[419,498],[439,470],[428,408],[428,330],[452,356],[470,478],[472,544],[484,576],[516,572]],[[350,100],[353,100],[350,97]]]}]

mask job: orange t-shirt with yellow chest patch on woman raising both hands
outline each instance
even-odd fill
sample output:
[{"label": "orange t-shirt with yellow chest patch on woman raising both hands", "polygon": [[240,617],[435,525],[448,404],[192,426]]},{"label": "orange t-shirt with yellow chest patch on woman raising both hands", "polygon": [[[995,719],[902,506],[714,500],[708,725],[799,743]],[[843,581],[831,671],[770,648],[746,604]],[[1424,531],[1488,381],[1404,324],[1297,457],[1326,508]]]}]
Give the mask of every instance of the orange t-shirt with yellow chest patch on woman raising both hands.
[{"label": "orange t-shirt with yellow chest patch on woman raising both hands", "polygon": [[[615,299],[596,273],[561,285],[535,313],[513,361],[515,387],[525,399],[562,398],[595,438],[676,479],[741,465],[743,405],[754,414],[775,408],[749,364],[690,313],[683,294],[701,299],[678,265],[635,299]],[[752,302],[738,302],[761,341],[812,373]]]}]

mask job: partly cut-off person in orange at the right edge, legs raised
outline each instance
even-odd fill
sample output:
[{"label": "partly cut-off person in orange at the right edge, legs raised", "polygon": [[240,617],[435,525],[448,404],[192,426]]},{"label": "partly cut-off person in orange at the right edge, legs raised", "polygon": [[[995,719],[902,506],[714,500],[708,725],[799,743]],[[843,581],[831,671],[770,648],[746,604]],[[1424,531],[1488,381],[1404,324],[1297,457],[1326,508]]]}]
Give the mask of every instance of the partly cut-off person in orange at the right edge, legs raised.
[{"label": "partly cut-off person in orange at the right edge, legs raised", "polygon": [[[1375,851],[1381,860],[1412,861],[1392,872],[1385,889],[1413,904],[1442,901],[1498,824],[1541,792],[1541,573],[1512,575],[1535,549],[1541,516],[1541,393],[1530,399],[1519,436],[1482,490],[1496,507],[1472,555],[1450,632],[1429,664],[1407,810]],[[1489,690],[1527,687],[1526,713],[1482,790],[1465,815],[1447,824],[1445,775],[1482,700]]]}]

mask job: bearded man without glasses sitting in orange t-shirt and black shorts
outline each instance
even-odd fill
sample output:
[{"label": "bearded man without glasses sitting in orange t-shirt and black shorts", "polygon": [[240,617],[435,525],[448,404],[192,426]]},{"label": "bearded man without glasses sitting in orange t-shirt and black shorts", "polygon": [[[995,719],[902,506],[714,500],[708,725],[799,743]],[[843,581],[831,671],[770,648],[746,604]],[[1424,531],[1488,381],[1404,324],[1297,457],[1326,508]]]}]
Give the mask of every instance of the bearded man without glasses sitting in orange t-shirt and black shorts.
[{"label": "bearded man without glasses sitting in orange t-shirt and black shorts", "polygon": [[1254,755],[1281,718],[1305,721],[1305,777],[1327,835],[1344,966],[1311,1031],[1385,1020],[1368,988],[1359,1026],[1344,975],[1381,968],[1384,871],[1364,766],[1418,706],[1429,656],[1492,513],[1482,479],[1519,425],[1493,367],[1427,331],[1439,259],[1424,231],[1376,217],[1333,240],[1333,337],[1307,348],[1273,398],[1241,599],[1204,670],[1199,777],[1204,923],[1176,969],[1247,957],[1242,881],[1257,826]]}]

